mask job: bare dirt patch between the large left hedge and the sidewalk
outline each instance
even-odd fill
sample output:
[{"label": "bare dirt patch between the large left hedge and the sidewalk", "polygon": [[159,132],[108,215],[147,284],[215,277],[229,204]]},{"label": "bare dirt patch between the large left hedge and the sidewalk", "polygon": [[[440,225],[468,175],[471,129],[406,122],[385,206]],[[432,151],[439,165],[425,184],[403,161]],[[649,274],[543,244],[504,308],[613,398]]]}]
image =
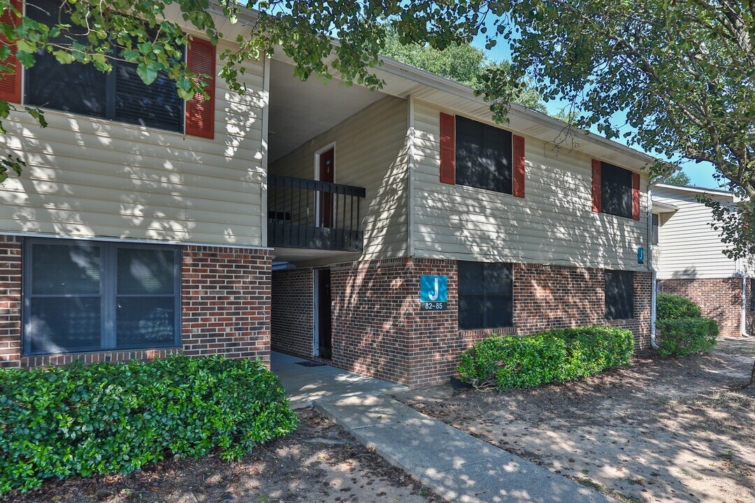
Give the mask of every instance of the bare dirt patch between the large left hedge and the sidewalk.
[{"label": "bare dirt patch between the large left hedge and the sidewalk", "polygon": [[288,437],[260,446],[239,462],[210,455],[170,459],[128,475],[50,480],[13,503],[289,503],[371,501],[442,503],[429,489],[356,443],[312,409]]}]

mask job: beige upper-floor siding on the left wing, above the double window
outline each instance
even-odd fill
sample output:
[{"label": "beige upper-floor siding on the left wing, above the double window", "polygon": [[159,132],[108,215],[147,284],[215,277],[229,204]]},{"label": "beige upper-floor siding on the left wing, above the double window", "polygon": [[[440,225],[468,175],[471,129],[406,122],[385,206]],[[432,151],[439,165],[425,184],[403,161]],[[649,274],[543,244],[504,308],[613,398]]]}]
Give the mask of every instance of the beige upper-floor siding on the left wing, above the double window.
[{"label": "beige upper-floor siding on the left wing, above the double window", "polygon": [[45,129],[11,115],[0,143],[27,166],[0,186],[0,232],[264,246],[264,64],[244,66],[244,95],[216,79],[214,140],[54,110]]}]

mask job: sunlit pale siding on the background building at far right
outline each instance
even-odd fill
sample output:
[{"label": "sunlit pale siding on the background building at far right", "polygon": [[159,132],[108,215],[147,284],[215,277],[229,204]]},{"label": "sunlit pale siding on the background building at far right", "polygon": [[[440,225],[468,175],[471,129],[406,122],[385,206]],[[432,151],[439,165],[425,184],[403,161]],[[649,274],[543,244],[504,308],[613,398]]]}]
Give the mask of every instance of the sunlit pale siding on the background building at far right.
[{"label": "sunlit pale siding on the background building at far right", "polygon": [[[710,227],[710,209],[697,201],[698,192],[653,188],[653,201],[673,204],[676,213],[661,213],[656,262],[658,278],[728,278],[735,274],[735,262],[721,253],[726,245]],[[731,198],[721,201],[731,202]]]}]

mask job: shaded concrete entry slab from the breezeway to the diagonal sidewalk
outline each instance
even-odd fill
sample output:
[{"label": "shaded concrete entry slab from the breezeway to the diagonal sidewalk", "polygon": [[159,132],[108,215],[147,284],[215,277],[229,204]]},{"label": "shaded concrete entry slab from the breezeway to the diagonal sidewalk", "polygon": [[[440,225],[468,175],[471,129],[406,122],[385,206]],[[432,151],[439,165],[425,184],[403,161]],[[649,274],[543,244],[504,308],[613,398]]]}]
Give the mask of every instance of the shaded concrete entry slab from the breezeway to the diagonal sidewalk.
[{"label": "shaded concrete entry slab from the breezeway to the diagonal sidewalk", "polygon": [[361,376],[330,365],[303,367],[298,364],[306,361],[304,358],[276,351],[270,355],[270,369],[281,380],[293,409],[310,406],[314,400],[327,397],[353,397],[406,390],[402,385]]}]

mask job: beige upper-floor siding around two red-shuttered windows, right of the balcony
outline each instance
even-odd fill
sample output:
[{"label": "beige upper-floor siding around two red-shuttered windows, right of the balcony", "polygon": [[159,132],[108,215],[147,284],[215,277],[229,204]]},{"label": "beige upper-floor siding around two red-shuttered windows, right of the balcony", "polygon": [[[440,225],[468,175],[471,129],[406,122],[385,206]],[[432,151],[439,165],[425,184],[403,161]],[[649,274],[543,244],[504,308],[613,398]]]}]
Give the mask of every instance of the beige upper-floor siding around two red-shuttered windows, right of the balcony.
[{"label": "beige upper-floor siding around two red-shuttered windows, right of the balcony", "polygon": [[441,111],[453,113],[414,104],[416,256],[647,270],[637,263],[648,241],[646,174],[639,222],[592,211],[589,157],[526,136],[525,198],[441,183]]}]

